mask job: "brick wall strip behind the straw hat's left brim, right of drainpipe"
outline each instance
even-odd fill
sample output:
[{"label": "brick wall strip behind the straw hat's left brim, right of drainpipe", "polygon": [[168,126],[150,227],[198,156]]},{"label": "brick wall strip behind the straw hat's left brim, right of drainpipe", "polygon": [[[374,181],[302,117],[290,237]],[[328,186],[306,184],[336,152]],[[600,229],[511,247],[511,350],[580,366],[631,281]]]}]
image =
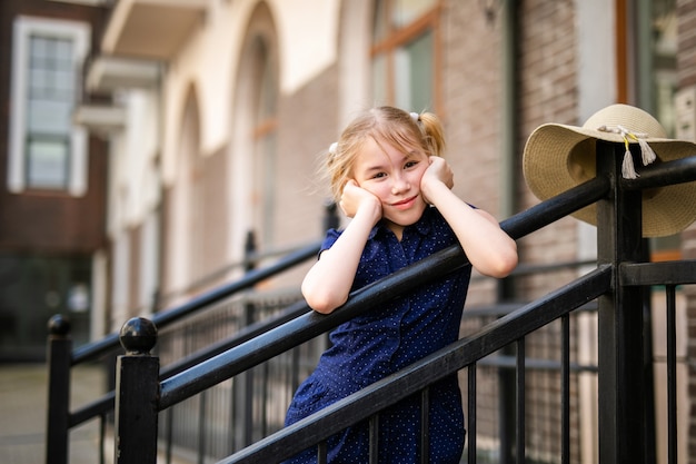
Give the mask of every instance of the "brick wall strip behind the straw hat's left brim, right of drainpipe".
[{"label": "brick wall strip behind the straw hat's left brim, right of drainpipe", "polygon": [[[547,122],[578,121],[577,37],[574,2],[530,0],[520,3],[518,43],[518,166],[528,136]],[[529,192],[519,169],[518,209],[539,200]],[[577,219],[565,218],[518,241],[520,258],[529,265],[548,265],[577,259]],[[518,295],[535,299],[576,277],[575,270],[537,274],[517,282]],[[571,320],[571,327],[577,327]],[[560,325],[555,323],[526,339],[526,355],[537,359],[558,359]],[[571,343],[577,342],[571,336]],[[575,353],[571,346],[571,353]],[[573,354],[571,356],[575,356]],[[571,377],[571,388],[577,388]],[[560,453],[560,376],[554,371],[529,371],[527,374],[527,455],[539,462]],[[571,424],[579,431],[578,396],[571,394]],[[581,451],[571,440],[571,462],[579,462]],[[550,461],[549,461],[550,462]]]}]

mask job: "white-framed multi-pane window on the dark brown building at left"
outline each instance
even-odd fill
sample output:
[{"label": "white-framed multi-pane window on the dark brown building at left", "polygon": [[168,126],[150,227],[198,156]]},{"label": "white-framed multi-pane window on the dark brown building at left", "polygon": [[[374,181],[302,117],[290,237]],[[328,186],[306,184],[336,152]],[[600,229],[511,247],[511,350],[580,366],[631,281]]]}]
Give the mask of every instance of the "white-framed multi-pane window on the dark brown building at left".
[{"label": "white-framed multi-pane window on the dark brown building at left", "polygon": [[72,125],[84,23],[20,17],[14,22],[8,188],[86,190],[87,134]]}]

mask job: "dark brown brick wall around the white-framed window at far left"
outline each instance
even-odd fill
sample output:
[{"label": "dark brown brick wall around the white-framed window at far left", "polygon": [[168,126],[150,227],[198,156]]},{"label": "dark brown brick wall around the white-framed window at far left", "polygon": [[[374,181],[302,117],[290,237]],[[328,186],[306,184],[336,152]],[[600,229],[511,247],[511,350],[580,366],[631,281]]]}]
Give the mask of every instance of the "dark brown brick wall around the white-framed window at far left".
[{"label": "dark brown brick wall around the white-framed window at far left", "polygon": [[105,245],[105,201],[107,164],[103,140],[90,137],[88,190],[74,198],[63,192],[7,191],[12,28],[17,16],[71,19],[90,24],[92,46],[98,43],[102,11],[46,0],[3,0],[0,2],[0,249],[10,253],[91,253]]}]

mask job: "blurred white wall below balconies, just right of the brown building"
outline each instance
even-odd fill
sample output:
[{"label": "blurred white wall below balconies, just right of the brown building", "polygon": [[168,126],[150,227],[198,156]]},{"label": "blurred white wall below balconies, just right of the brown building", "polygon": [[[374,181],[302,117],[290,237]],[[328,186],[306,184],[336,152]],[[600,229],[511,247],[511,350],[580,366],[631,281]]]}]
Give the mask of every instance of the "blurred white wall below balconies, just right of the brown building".
[{"label": "blurred white wall below balconies, just right of the brown building", "polygon": [[[151,306],[159,263],[159,229],[155,224],[160,203],[158,90],[120,90],[116,100],[125,109],[126,122],[123,130],[109,138],[107,235],[112,246],[112,276],[111,324],[107,332],[118,330],[133,316],[133,303],[139,308]],[[130,233],[140,227],[140,255],[132,263],[131,246],[136,244],[131,244]],[[129,278],[133,275],[139,279],[137,302],[130,300]]]}]

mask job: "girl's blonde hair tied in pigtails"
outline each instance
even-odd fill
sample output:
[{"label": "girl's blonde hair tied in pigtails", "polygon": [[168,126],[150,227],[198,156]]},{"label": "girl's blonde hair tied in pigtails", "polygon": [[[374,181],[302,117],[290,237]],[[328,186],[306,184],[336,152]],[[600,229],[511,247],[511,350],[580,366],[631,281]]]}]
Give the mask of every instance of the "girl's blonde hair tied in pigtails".
[{"label": "girl's blonde hair tied in pigtails", "polygon": [[421,150],[426,156],[443,156],[445,135],[439,118],[431,112],[407,112],[394,107],[377,107],[354,119],[326,158],[334,200],[340,200],[346,182],[352,177],[355,164],[368,138],[386,142],[405,152]]}]

